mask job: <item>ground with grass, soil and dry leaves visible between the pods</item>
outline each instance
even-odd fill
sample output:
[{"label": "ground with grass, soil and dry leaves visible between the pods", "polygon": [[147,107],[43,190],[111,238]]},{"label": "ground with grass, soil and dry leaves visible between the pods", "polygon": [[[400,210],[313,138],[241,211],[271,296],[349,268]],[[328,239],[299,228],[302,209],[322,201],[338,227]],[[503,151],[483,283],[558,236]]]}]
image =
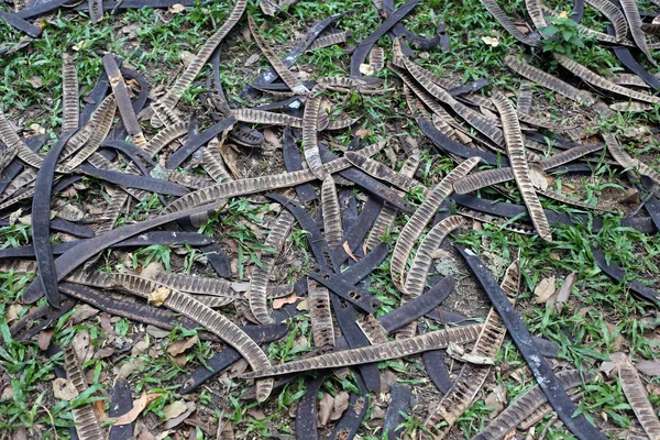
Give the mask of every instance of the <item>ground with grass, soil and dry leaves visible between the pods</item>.
[{"label": "ground with grass, soil and dry leaves visible between the pods", "polygon": [[[570,10],[564,3],[549,6],[557,7],[558,11]],[[10,3],[2,7],[8,10],[13,8]],[[42,38],[0,58],[2,108],[21,129],[23,136],[42,130],[54,136],[54,133],[58,132],[62,116],[59,73],[61,53],[64,51],[73,54],[82,97],[102,72],[101,56],[106,51],[112,51],[123,57],[127,65],[143,73],[153,86],[151,94],[157,97],[170,86],[173,78],[183,72],[184,63],[190,54],[195,54],[200,44],[223,22],[231,7],[231,2],[218,1],[186,8],[183,11],[144,9],[119,12],[117,15],[106,14],[98,25],[91,25],[82,12],[62,11],[57,15],[45,16]],[[525,15],[521,1],[507,1],[505,9],[512,16],[516,13]],[[367,36],[382,21],[371,1],[300,1],[277,18],[263,15],[256,2],[251,2],[248,9],[248,13],[262,25],[264,34],[278,54],[286,53],[296,37],[305,32],[306,26],[338,12],[346,12],[337,22],[338,28],[350,31],[352,36],[348,44],[304,55],[297,64],[298,74],[300,77],[310,78],[348,75],[348,48]],[[411,31],[428,35],[435,29],[437,19],[441,16],[447,22],[452,51],[447,54],[439,50],[419,51],[418,63],[458,81],[487,78],[492,87],[505,91],[517,89],[519,78],[504,67],[503,61],[506,55],[518,54],[521,48],[498,26],[477,0],[422,1],[404,23]],[[587,10],[583,24],[603,30],[603,25],[597,24],[602,21],[596,21],[600,19],[595,12]],[[486,44],[482,38],[484,36],[497,38],[498,44]],[[22,36],[11,28],[0,24],[0,41],[15,47],[21,38]],[[381,40],[380,44],[386,50],[387,58],[391,58],[388,37]],[[602,75],[622,69],[608,51],[593,42],[587,41],[585,48],[575,51],[578,59]],[[254,54],[258,54],[258,48],[249,37],[246,21],[242,20],[222,43],[221,78],[230,105],[234,108],[252,107],[271,100],[264,97],[260,101],[245,102],[238,98],[239,91],[258,72],[267,67],[265,58],[254,57]],[[542,52],[537,54],[537,59],[550,73],[558,73],[557,67]],[[386,85],[396,84],[396,76],[388,69],[382,70],[378,76],[386,80]],[[199,113],[200,122],[208,124],[210,119],[197,99],[201,89],[202,85],[193,87],[180,107],[188,111],[194,109]],[[484,94],[488,95],[490,89]],[[591,111],[558,99],[541,88],[536,91],[534,102],[535,113],[551,117],[558,122],[575,121]],[[451,160],[432,152],[415,121],[407,117],[406,102],[400,89],[385,96],[362,96],[355,99],[343,97],[334,100],[334,103],[337,111],[365,114],[362,128],[366,131],[366,141],[370,143],[387,140],[399,153],[403,153],[402,144],[418,143],[424,151],[419,169],[422,182],[428,186],[439,182],[453,168]],[[624,131],[640,124],[657,124],[660,118],[658,107],[646,113],[631,114],[606,121],[604,127]],[[143,129],[147,138],[156,132],[148,123],[145,123]],[[279,129],[275,128],[272,131],[279,139]],[[346,131],[333,133],[331,139],[340,146],[346,146],[350,140],[351,133]],[[632,155],[641,156],[649,165],[658,168],[656,139],[631,141],[629,146],[632,147],[629,150]],[[282,145],[277,141],[266,144],[261,151],[242,148],[237,155],[235,166],[241,175],[246,177],[279,172],[283,169],[280,150]],[[383,156],[381,160],[388,163]],[[631,209],[630,205],[625,202],[629,185],[606,164],[598,165],[591,177],[554,177],[554,183],[573,189],[576,197],[590,204],[615,206],[624,212]],[[86,180],[85,185],[88,188],[81,191],[85,198],[76,194],[68,197],[72,202],[88,212],[94,212],[107,194],[102,184],[98,182]],[[515,187],[507,184],[506,188]],[[491,197],[502,197],[491,189],[482,193]],[[510,198],[519,201],[518,193],[513,190]],[[158,206],[155,198],[143,204],[142,212]],[[573,210],[550,199],[543,199],[543,205],[558,211]],[[272,217],[270,205],[258,197],[249,197],[232,201],[222,215],[205,226],[204,231],[213,234],[231,256],[235,280],[248,280],[245,273],[254,265],[251,260],[254,255],[252,251],[265,239],[262,222],[264,219],[270,222]],[[124,222],[130,220],[132,219],[121,219]],[[406,220],[404,216],[399,216],[397,228],[388,238],[392,243],[396,241],[398,230]],[[483,254],[497,275],[502,275],[508,263],[519,255],[524,277],[518,310],[524,312],[525,321],[535,334],[560,345],[560,353],[554,361],[559,366],[572,364],[597,372],[608,353],[616,351],[625,351],[635,360],[656,359],[660,343],[660,332],[654,329],[658,323],[657,309],[636,299],[623,289],[622,285],[603,274],[591,257],[588,245],[598,244],[606,255],[626,268],[631,277],[660,288],[659,239],[620,228],[618,216],[607,217],[605,228],[598,233],[592,233],[582,227],[560,228],[553,233],[554,241],[548,244],[541,242],[538,237],[518,235],[480,223],[457,234],[454,239]],[[2,246],[26,244],[31,237],[30,227],[18,224],[1,228],[0,237]],[[308,264],[305,246],[301,231],[295,229],[286,244],[285,256],[279,261],[278,282],[295,279],[297,267]],[[447,305],[468,316],[484,318],[490,306],[483,292],[476,287],[460,258],[453,253],[451,255],[454,264],[449,264],[449,268],[439,268],[440,272],[453,272],[459,280],[457,292],[450,296]],[[155,248],[133,251],[131,254],[114,252],[102,257],[99,264],[112,271],[122,264],[136,268],[146,266],[150,262],[157,262],[173,272],[211,273],[202,261],[196,261],[199,255],[189,249]],[[534,292],[541,280],[554,277],[559,287],[571,273],[576,274],[578,282],[572,289],[568,307],[558,312],[544,304],[536,304]],[[388,266],[385,264],[372,275],[374,292],[384,302],[380,314],[398,304],[399,294],[392,286],[388,274]],[[36,339],[18,342],[13,341],[8,332],[8,324],[29,310],[28,306],[20,306],[19,299],[22,288],[31,278],[11,273],[0,274],[0,333],[3,337],[0,348],[0,439],[11,436],[22,438],[21,433],[28,438],[68,438],[67,426],[72,424],[70,405],[53,397],[51,381],[54,377],[54,362],[38,350]],[[235,316],[237,321],[245,322],[241,311],[234,307],[229,307],[226,312]],[[87,334],[91,343],[89,350],[94,358],[85,363],[91,393],[81,396],[76,404],[96,402],[98,411],[106,413],[113,377],[123,369],[134,398],[143,391],[161,394],[139,418],[136,432],[141,433],[141,439],[216,438],[220,418],[232,421],[238,438],[289,438],[293,435],[294,409],[305,392],[306,382],[302,378],[275,392],[264,406],[257,406],[256,403],[238,399],[246,387],[245,381],[235,378],[246,367],[246,364],[239,363],[200,388],[198,393],[180,396],[177,389],[182,377],[216,352],[218,344],[198,342],[186,351],[184,358],[179,356],[175,361],[167,354],[166,349],[175,341],[190,338],[189,332],[175,330],[163,334],[106,314],[89,316],[81,315],[80,310],[75,314],[77,318],[67,315],[61,319],[52,338],[62,345],[79,341]],[[425,324],[435,328],[430,321]],[[307,318],[300,317],[292,322],[290,329],[287,338],[268,348],[272,362],[297,359],[310,350],[311,334]],[[472,437],[488,422],[494,408],[487,406],[484,398],[490,396],[496,386],[506,391],[506,399],[510,402],[534,383],[510,341],[505,342],[496,363],[497,366],[486,381],[477,402],[457,424],[453,436]],[[460,370],[460,363],[454,361],[450,361],[449,366],[452,374]],[[380,439],[383,436],[381,426],[388,400],[386,385],[396,378],[415,388],[417,406],[406,422],[405,431],[406,437],[418,436],[421,429],[420,420],[424,419],[429,404],[437,402],[441,395],[428,380],[418,356],[400,362],[382,363],[380,367],[385,386],[383,393],[374,397],[374,406],[369,410],[359,435],[363,439]],[[658,378],[645,376],[644,380],[648,383],[651,403],[659,405]],[[322,392],[338,396],[342,391],[351,389],[355,389],[351,377],[332,377],[326,382]],[[601,429],[614,435],[630,426],[634,414],[616,381],[602,374],[597,381],[586,385],[584,392],[581,410]],[[182,425],[167,429],[167,411],[176,402],[191,402],[196,411]],[[543,424],[539,425],[537,435],[542,428]],[[547,436],[564,438],[568,435],[561,424],[557,424],[549,429]]]}]

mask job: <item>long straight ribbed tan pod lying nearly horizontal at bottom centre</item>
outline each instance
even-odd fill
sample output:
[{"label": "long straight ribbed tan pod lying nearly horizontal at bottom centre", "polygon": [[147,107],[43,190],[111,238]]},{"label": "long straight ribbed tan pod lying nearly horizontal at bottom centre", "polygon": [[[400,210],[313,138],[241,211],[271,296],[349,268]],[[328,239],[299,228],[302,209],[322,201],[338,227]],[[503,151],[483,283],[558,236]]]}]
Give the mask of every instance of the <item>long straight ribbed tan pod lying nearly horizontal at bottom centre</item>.
[{"label": "long straight ribbed tan pod lying nearly horizontal at bottom centre", "polygon": [[374,362],[399,359],[429,350],[444,349],[450,342],[466,343],[474,341],[481,331],[481,324],[462,326],[446,330],[430,331],[400,341],[389,341],[380,345],[361,346],[338,352],[321,354],[311,359],[302,359],[265,370],[246,373],[243,377],[266,377],[280,374],[300,373],[322,369],[339,369],[342,366],[361,365]]}]

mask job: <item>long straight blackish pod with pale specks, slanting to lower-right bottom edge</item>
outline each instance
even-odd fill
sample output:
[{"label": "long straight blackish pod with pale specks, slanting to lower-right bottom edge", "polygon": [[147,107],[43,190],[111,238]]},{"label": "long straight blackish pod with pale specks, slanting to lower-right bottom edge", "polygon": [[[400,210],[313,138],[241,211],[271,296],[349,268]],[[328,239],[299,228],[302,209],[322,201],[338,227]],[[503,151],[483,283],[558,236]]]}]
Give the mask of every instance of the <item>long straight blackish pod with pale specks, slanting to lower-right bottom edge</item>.
[{"label": "long straight blackish pod with pale specks, slanting to lower-right bottom edge", "polygon": [[574,416],[578,408],[575,408],[575,405],[573,405],[566,395],[561,383],[558,381],[557,376],[554,376],[552,367],[539,351],[529,330],[525,327],[520,316],[516,312],[505,293],[497,285],[497,282],[493,278],[491,272],[471,251],[460,245],[457,245],[457,249],[461,255],[463,255],[472,272],[476,275],[476,278],[488,295],[488,298],[491,298],[493,307],[502,318],[506,329],[516,343],[518,351],[529,365],[535,378],[561,421],[563,421],[565,427],[581,440],[605,440],[606,437],[586,421],[583,415]]}]

